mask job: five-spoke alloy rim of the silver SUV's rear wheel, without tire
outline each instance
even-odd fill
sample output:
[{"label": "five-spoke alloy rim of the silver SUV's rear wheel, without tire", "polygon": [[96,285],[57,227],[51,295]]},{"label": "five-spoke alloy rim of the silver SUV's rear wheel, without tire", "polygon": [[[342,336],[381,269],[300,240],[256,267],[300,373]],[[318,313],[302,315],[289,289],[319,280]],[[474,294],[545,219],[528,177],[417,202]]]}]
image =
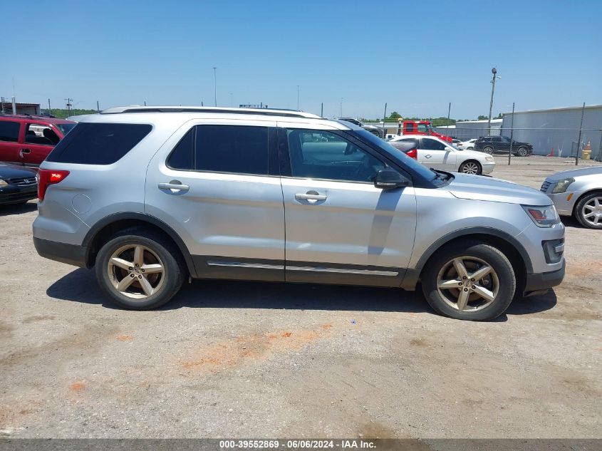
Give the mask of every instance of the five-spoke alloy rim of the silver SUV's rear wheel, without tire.
[{"label": "five-spoke alloy rim of the silver SUV's rear wheel, without tire", "polygon": [[119,294],[137,301],[157,293],[165,281],[165,265],[148,247],[127,244],[108,261],[110,283]]}]

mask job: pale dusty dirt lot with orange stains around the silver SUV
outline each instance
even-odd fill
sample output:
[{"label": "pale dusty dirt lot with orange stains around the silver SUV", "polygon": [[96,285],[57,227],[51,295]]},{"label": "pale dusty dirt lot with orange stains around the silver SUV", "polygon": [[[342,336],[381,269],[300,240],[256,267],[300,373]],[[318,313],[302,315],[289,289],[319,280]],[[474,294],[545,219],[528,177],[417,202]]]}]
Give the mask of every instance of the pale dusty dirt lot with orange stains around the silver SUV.
[{"label": "pale dusty dirt lot with orange stains around the silver SUV", "polygon": [[[573,167],[497,161],[536,188]],[[36,254],[36,214],[0,209],[0,436],[602,437],[602,232],[572,220],[564,283],[469,323],[395,289],[225,281],[118,310]]]}]

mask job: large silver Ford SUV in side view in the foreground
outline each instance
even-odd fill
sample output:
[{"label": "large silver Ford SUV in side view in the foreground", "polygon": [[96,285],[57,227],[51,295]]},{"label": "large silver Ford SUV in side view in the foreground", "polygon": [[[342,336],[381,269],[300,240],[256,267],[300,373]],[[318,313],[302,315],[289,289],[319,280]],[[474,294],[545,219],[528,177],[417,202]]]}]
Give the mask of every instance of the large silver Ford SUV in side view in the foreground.
[{"label": "large silver Ford SUV in side view in the foreground", "polygon": [[192,278],[420,284],[437,312],[489,320],[564,276],[564,226],[543,193],[429,170],[308,113],[111,108],[40,168],[38,253],[94,266],[126,309]]}]

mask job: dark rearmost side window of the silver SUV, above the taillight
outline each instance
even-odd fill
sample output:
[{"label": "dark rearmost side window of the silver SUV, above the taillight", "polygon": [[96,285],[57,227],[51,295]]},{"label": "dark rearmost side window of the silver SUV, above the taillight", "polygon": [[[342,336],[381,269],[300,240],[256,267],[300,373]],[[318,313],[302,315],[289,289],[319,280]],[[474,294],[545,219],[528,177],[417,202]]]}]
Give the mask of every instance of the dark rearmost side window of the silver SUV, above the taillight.
[{"label": "dark rearmost side window of the silver SUV, above the taillight", "polygon": [[46,158],[59,163],[111,165],[130,152],[150,130],[147,124],[79,123]]}]

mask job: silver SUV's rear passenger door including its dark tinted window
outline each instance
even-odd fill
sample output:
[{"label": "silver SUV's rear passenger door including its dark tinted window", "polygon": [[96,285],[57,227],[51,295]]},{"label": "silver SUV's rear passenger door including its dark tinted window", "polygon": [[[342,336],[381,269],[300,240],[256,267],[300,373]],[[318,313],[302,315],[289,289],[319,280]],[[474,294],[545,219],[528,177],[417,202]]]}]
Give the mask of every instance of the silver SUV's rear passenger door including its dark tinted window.
[{"label": "silver SUV's rear passenger door including its dark tinted window", "polygon": [[145,212],[175,229],[199,277],[284,281],[275,125],[192,121],[152,158]]}]

